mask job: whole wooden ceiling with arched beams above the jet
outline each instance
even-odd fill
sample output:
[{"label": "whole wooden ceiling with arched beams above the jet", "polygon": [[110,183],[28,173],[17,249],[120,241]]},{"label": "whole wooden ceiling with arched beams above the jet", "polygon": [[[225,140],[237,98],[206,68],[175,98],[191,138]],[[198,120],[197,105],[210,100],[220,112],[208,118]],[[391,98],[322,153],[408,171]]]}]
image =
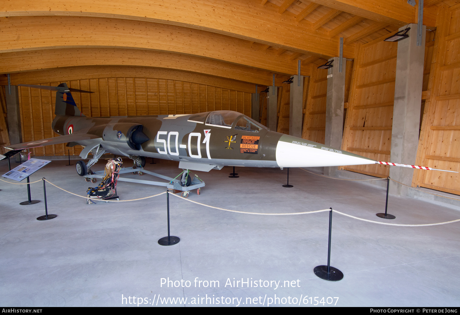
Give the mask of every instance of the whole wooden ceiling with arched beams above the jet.
[{"label": "whole wooden ceiling with arched beams above the jet", "polygon": [[[434,26],[439,1],[425,2],[424,24]],[[338,56],[339,37],[354,58],[357,43],[416,23],[416,13],[406,0],[9,0],[0,85],[6,73],[18,84],[33,83],[19,72],[135,66],[219,77],[225,88],[271,85],[276,74],[281,86],[298,60],[308,76],[311,63]]]}]

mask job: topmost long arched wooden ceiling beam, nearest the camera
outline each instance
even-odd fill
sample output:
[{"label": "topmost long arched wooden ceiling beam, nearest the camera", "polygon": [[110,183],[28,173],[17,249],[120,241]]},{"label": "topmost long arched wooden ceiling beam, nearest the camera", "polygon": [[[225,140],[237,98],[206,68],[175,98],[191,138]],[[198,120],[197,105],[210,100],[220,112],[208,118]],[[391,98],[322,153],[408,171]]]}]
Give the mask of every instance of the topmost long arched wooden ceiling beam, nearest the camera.
[{"label": "topmost long arched wooden ceiling beam, nearest the camera", "polygon": [[[275,8],[276,7],[276,8]],[[50,9],[51,8],[51,9]],[[244,8],[244,9],[243,9]],[[299,25],[289,14],[273,14],[278,6],[262,6],[259,1],[232,0],[9,0],[2,3],[0,16],[91,16],[155,22],[230,35],[231,37],[332,56],[338,39]],[[64,37],[65,38],[65,37]],[[354,57],[354,45],[345,47],[344,56]]]}]

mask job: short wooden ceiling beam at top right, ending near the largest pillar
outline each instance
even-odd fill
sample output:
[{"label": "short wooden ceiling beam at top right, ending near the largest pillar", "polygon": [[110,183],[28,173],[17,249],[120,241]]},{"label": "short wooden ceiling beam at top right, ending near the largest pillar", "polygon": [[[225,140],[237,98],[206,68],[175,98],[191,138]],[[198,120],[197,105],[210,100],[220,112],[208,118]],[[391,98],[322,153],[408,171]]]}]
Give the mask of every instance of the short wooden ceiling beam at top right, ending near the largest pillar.
[{"label": "short wooden ceiling beam at top right, ending near the largest pillar", "polygon": [[[401,26],[407,23],[417,23],[417,8],[407,1],[401,0],[309,0],[322,6],[368,18],[370,20]],[[430,1],[430,0],[428,0]],[[426,5],[425,5],[426,7]],[[436,14],[436,7],[426,7],[427,14],[423,17],[424,24],[436,26],[432,15]],[[431,12],[433,11],[433,12]],[[432,25],[431,25],[432,24]]]}]

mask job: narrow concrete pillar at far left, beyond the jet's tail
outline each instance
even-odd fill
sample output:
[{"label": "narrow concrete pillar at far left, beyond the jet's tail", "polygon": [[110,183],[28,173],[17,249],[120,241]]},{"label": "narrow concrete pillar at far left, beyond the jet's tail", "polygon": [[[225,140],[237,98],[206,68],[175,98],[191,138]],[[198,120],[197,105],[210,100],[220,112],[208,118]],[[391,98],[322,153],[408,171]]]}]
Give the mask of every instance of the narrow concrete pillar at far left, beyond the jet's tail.
[{"label": "narrow concrete pillar at far left, beyond the jet's tail", "polygon": [[18,144],[22,141],[21,114],[19,111],[19,93],[16,85],[11,85],[11,95],[8,86],[5,86],[6,115],[8,117],[8,135],[10,143]]}]

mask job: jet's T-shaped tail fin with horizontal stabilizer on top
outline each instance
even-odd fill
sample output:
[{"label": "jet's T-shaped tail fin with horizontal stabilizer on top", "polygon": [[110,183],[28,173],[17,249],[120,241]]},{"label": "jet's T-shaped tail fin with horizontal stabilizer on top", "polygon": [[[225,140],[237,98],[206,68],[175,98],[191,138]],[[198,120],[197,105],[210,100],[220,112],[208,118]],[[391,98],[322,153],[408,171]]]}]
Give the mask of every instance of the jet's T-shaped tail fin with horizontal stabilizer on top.
[{"label": "jet's T-shaped tail fin with horizontal stabilizer on top", "polygon": [[21,87],[35,87],[41,88],[44,90],[56,91],[56,107],[54,113],[58,116],[68,115],[68,116],[82,116],[81,111],[78,109],[75,104],[74,98],[72,97],[72,92],[79,93],[93,93],[89,91],[77,90],[75,88],[68,87],[67,84],[61,83],[57,87],[49,87],[46,85],[30,85],[30,84],[18,84]]}]

